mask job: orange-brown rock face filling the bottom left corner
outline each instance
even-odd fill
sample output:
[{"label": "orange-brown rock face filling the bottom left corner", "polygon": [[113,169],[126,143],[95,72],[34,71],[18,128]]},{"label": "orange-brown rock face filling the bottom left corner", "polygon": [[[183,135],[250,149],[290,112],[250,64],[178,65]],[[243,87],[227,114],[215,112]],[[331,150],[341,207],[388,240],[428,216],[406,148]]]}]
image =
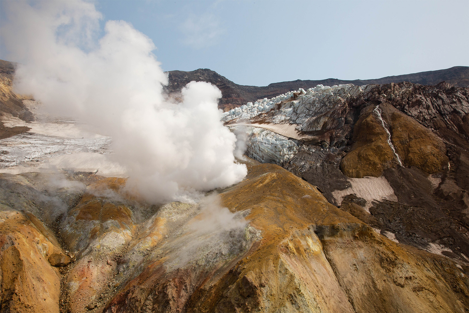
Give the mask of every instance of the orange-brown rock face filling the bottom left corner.
[{"label": "orange-brown rock face filling the bottom left corner", "polygon": [[52,256],[67,259],[32,214],[0,205],[1,312],[59,312],[60,273]]}]

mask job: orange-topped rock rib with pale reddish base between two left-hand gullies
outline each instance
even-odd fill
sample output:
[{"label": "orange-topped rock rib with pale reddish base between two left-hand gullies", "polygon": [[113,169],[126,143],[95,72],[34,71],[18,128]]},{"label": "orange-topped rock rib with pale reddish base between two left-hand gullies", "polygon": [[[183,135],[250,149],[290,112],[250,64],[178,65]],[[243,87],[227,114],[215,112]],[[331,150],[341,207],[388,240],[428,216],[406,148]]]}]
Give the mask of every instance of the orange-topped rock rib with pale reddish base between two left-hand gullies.
[{"label": "orange-topped rock rib with pale reddish base between two left-hand gullies", "polygon": [[74,313],[94,308],[95,298],[113,284],[115,256],[134,235],[132,211],[118,193],[124,185],[125,179],[115,177],[92,183],[62,222],[62,237],[77,255],[67,278]]}]

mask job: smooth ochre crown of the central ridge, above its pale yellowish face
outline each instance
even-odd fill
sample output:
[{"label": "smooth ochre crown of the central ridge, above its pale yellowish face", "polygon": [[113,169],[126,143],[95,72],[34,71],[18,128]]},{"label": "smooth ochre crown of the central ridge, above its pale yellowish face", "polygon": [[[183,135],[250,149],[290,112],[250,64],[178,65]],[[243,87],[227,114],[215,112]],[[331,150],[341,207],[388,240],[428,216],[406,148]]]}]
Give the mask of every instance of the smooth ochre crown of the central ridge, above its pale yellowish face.
[{"label": "smooth ochre crown of the central ridge, above its pale yellowish face", "polygon": [[262,230],[263,245],[311,224],[362,223],[327,202],[315,186],[274,164],[251,168],[245,180],[220,195],[232,211],[250,209],[246,219]]}]

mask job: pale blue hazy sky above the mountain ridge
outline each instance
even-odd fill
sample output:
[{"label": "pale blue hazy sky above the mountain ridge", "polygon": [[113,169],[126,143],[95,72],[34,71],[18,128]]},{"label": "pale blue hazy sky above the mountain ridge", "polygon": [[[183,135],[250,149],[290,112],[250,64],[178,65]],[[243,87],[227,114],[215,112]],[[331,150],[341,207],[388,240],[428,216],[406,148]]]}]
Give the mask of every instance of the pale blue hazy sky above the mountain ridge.
[{"label": "pale blue hazy sky above the mountain ridge", "polygon": [[[0,27],[8,18],[5,2]],[[466,0],[93,3],[102,27],[123,20],[151,38],[163,70],[212,69],[236,84],[372,79],[469,66]],[[0,58],[20,61],[1,40]]]}]

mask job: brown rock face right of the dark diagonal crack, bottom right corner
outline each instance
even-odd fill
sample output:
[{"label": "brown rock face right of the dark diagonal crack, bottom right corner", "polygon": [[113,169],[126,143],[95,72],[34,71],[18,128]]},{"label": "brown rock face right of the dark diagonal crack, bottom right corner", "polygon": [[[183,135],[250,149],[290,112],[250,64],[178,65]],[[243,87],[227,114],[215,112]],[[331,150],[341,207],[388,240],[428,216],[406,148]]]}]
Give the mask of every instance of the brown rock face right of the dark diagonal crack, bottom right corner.
[{"label": "brown rock face right of the dark diagonal crack, bottom right corner", "polygon": [[463,312],[467,308],[465,276],[444,257],[395,244],[362,225],[319,230],[327,260],[355,312]]}]

